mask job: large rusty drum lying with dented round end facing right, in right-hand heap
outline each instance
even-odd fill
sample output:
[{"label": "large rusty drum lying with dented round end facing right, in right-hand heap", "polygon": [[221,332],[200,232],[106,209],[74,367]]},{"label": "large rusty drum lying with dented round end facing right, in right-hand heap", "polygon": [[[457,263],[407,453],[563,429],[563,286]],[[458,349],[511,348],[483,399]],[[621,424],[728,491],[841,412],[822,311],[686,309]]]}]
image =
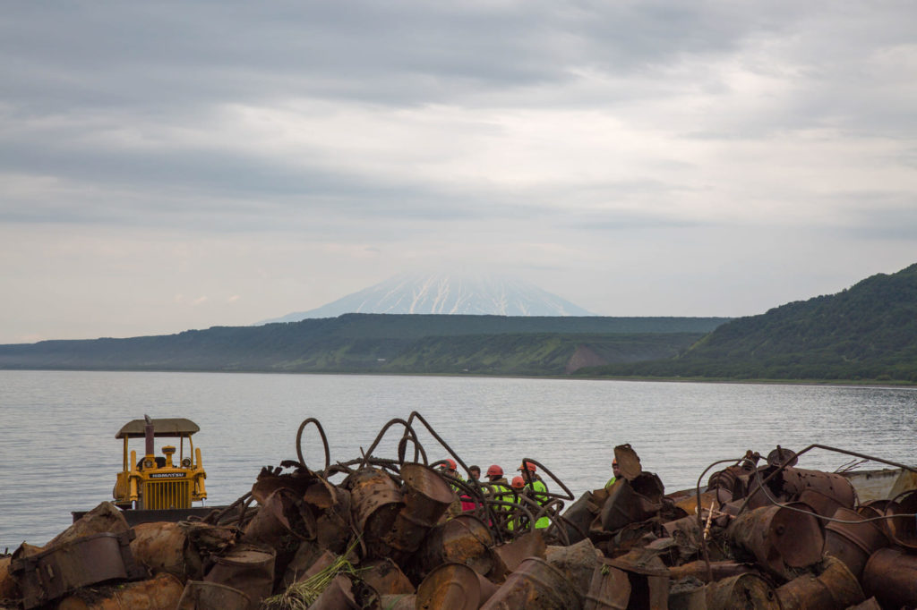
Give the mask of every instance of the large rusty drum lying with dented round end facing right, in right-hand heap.
[{"label": "large rusty drum lying with dented round end facing right, in right-hand heap", "polygon": [[824,547],[819,519],[794,507],[811,510],[801,503],[756,508],[735,517],[727,535],[755,555],[759,565],[783,578],[790,568],[806,568],[820,561]]}]

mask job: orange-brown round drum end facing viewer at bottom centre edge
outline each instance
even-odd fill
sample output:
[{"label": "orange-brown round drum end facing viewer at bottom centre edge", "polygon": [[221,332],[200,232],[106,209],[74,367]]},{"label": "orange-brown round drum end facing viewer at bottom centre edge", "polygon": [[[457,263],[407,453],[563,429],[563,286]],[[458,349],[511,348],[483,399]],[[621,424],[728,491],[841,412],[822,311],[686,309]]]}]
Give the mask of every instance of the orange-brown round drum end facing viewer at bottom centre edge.
[{"label": "orange-brown round drum end facing viewer at bottom centre edge", "polygon": [[477,610],[497,586],[464,563],[444,563],[417,587],[416,607]]}]

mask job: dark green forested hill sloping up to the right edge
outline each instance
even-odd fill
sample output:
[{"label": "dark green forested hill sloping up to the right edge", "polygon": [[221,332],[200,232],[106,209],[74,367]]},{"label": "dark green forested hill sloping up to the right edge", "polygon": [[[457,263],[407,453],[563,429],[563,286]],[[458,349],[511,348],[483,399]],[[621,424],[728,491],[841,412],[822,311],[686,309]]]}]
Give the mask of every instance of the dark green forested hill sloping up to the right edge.
[{"label": "dark green forested hill sloping up to the right edge", "polygon": [[668,361],[580,373],[917,382],[917,265],[730,321]]}]

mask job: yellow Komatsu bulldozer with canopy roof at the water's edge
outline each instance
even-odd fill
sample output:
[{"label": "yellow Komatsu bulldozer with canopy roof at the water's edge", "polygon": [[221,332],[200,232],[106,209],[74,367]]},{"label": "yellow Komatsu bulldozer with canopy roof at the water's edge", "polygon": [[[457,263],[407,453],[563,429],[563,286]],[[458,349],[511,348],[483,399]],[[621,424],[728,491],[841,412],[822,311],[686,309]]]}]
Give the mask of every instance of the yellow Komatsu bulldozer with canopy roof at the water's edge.
[{"label": "yellow Komatsu bulldozer with canopy roof at the water's edge", "polygon": [[[204,463],[200,448],[195,449],[192,435],[199,431],[191,419],[133,419],[118,430],[116,439],[124,440],[124,462],[113,496],[117,507],[160,510],[190,508],[193,502],[204,502]],[[174,439],[162,444],[161,455],[155,451],[157,438]],[[131,439],[144,439],[144,452],[130,449]],[[177,453],[177,455],[176,455]]]}]

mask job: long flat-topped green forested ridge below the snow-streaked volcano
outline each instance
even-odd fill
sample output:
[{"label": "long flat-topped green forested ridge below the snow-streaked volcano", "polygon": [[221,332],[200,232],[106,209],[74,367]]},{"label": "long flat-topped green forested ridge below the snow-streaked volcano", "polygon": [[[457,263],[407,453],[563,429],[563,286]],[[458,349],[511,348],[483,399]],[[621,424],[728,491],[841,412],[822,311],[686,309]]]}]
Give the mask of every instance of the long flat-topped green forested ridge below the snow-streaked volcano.
[{"label": "long flat-topped green forested ridge below the snow-streaked volcano", "polygon": [[0,368],[563,375],[581,365],[673,356],[727,320],[345,314],[0,345]]}]

